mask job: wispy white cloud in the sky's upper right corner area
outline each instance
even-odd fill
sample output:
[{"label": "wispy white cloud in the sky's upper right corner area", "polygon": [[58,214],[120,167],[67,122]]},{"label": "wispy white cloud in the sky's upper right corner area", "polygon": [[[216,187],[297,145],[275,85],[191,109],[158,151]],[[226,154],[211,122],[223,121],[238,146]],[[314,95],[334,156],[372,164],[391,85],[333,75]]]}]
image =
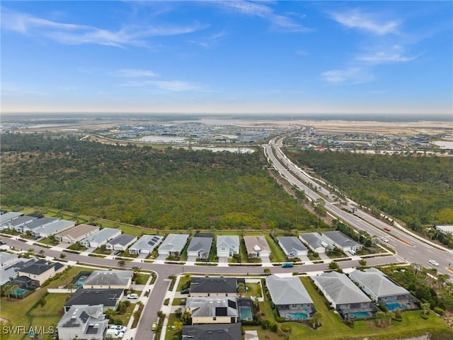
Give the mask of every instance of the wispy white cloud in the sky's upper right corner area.
[{"label": "wispy white cloud in the sky's upper right corner area", "polygon": [[359,28],[377,35],[397,33],[399,21],[381,21],[374,14],[362,13],[358,8],[343,13],[331,13],[331,18],[348,28]]}]

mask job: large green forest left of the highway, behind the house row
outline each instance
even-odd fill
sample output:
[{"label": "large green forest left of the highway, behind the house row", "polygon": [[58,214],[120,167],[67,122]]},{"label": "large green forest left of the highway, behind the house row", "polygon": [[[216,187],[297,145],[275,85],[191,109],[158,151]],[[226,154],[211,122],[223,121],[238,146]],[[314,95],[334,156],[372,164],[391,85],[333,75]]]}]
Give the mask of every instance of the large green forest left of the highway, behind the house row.
[{"label": "large green forest left of the highway, behind the house row", "polygon": [[1,135],[1,203],[161,229],[327,227],[273,180],[262,152]]}]

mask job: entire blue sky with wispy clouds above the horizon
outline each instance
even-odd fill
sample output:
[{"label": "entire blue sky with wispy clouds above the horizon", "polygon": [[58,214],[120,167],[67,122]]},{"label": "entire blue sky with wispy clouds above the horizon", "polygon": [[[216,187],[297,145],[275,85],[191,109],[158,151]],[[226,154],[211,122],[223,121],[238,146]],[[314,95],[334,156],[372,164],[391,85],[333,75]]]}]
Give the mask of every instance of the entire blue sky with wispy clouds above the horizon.
[{"label": "entire blue sky with wispy clouds above the horizon", "polygon": [[1,1],[1,111],[453,111],[452,1]]}]

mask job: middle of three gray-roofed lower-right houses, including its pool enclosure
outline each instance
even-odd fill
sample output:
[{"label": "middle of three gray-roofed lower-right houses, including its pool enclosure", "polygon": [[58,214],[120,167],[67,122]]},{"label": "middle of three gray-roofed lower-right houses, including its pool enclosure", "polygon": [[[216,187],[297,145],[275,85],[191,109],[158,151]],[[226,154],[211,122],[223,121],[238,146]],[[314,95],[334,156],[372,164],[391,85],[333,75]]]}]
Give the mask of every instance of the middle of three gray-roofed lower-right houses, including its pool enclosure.
[{"label": "middle of three gray-roofed lower-right houses, including its pool enclosure", "polygon": [[369,300],[369,297],[343,273],[336,271],[322,273],[319,276],[313,276],[312,280],[343,319],[374,317],[379,310],[372,300]]}]

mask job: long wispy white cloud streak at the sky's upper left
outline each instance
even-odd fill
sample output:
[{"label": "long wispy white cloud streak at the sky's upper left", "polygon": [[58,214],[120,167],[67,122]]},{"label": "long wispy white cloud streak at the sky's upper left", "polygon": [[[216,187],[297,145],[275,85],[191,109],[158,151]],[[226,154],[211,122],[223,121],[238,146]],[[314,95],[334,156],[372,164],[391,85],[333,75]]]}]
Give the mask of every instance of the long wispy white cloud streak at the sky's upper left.
[{"label": "long wispy white cloud streak at the sky's upper left", "polygon": [[107,30],[76,23],[58,23],[27,13],[2,8],[1,28],[26,35],[45,37],[67,45],[128,45],[147,46],[147,38],[163,35],[193,33],[205,28],[199,23],[186,26],[132,26],[126,25],[119,30]]}]

